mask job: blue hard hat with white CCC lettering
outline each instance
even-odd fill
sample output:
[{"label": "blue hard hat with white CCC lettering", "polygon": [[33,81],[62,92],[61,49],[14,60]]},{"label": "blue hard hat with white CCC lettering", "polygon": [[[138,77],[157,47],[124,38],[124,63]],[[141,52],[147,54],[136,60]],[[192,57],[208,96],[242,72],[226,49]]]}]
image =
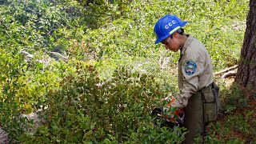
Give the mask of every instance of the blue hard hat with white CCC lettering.
[{"label": "blue hard hat with white CCC lettering", "polygon": [[185,26],[187,22],[188,21],[183,22],[180,18],[173,14],[166,14],[160,18],[154,25],[154,34],[157,36],[157,40],[154,42],[154,44],[162,42],[166,38],[170,37],[170,35],[174,34],[174,32]]}]

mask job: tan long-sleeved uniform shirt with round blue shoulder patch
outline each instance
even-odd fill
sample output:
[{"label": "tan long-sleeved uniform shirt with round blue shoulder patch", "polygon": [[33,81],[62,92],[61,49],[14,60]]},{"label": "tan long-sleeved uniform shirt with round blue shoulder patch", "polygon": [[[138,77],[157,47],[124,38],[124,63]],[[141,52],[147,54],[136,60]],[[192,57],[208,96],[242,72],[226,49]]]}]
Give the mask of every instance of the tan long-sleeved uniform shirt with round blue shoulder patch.
[{"label": "tan long-sleeved uniform shirt with round blue shoulder patch", "polygon": [[203,87],[213,82],[213,66],[206,47],[198,39],[189,36],[178,61],[178,88],[172,107],[182,108],[188,99]]}]

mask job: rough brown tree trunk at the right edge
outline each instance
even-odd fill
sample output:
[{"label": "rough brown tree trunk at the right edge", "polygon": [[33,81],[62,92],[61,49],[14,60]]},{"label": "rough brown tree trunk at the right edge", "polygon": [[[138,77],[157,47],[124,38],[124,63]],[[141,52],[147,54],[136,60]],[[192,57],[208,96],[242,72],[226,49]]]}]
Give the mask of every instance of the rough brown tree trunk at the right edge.
[{"label": "rough brown tree trunk at the right edge", "polygon": [[256,90],[256,0],[250,0],[246,34],[235,81],[243,87]]}]

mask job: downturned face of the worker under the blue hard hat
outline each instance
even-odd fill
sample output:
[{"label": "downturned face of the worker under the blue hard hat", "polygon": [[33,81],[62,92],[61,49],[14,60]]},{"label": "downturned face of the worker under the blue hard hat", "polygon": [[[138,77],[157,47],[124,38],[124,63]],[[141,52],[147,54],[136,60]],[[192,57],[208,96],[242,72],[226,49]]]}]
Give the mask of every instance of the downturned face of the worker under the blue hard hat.
[{"label": "downturned face of the worker under the blue hard hat", "polygon": [[180,43],[178,41],[178,34],[174,33],[173,38],[166,38],[162,41],[162,44],[166,46],[166,50],[172,50],[174,52],[177,52],[180,47]]}]

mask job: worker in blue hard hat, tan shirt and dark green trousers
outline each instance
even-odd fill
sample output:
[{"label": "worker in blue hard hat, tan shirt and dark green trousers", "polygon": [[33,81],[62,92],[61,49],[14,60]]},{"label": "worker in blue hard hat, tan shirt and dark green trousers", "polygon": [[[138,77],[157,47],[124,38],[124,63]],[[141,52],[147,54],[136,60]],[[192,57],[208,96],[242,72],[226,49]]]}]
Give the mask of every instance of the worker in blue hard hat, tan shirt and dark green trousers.
[{"label": "worker in blue hard hat, tan shirt and dark green trousers", "polygon": [[[214,94],[213,66],[206,47],[197,38],[184,34],[182,29],[188,22],[183,22],[175,15],[167,14],[160,18],[154,26],[157,40],[166,46],[166,50],[177,52],[178,60],[178,88],[179,94],[175,97],[171,107],[186,108],[184,125],[186,134],[185,143],[194,143],[203,140],[204,126],[207,122],[216,119],[218,106]],[[218,96],[218,95],[217,95]],[[217,99],[218,100],[218,99]],[[204,103],[213,105],[205,106]],[[214,109],[214,112],[210,111]]]}]

